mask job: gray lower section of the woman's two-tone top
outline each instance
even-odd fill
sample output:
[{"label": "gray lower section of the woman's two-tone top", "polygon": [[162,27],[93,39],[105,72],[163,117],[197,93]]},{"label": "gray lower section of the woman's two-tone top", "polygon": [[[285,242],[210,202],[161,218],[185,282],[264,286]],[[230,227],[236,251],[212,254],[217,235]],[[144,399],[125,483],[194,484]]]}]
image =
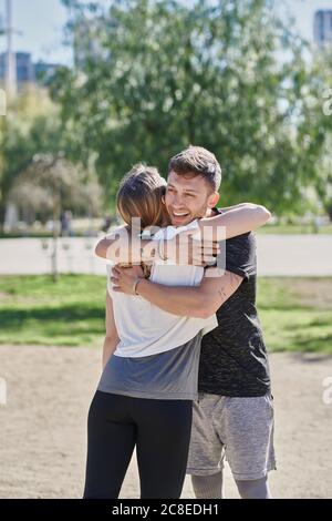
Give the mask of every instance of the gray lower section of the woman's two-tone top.
[{"label": "gray lower section of the woman's two-tone top", "polygon": [[97,390],[158,400],[197,400],[201,331],[186,344],[138,358],[113,355]]}]

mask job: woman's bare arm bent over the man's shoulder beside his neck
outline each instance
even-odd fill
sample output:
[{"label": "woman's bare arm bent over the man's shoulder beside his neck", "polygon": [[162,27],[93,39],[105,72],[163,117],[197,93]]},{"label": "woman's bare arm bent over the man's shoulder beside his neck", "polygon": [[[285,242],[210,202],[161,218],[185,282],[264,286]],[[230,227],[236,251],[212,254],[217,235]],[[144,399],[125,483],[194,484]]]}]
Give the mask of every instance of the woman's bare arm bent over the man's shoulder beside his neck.
[{"label": "woman's bare arm bent over the man's shoulder beside his neck", "polygon": [[224,214],[199,219],[199,227],[204,237],[222,241],[259,228],[270,217],[271,214],[264,206],[242,203],[230,206]]}]

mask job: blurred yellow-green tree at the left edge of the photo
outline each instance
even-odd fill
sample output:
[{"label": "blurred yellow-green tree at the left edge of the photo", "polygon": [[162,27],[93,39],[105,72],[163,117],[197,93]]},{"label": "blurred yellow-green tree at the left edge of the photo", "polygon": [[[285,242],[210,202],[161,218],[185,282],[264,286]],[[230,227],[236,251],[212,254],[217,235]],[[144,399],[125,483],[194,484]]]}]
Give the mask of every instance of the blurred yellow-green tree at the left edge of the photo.
[{"label": "blurred yellow-green tree at the left edge of the photo", "polygon": [[[62,200],[76,211],[83,214],[98,214],[95,197],[98,186],[95,182],[95,173],[91,159],[87,154],[80,156],[76,135],[71,125],[62,124],[59,118],[59,108],[51,102],[48,91],[44,89],[32,89],[23,92],[9,108],[7,118],[2,122],[0,134],[0,217],[4,218],[6,205],[14,194],[19,194],[19,185],[22,184],[21,193],[27,190],[25,177],[22,174],[31,168],[37,168],[35,157],[61,157],[68,161],[68,168],[64,175],[71,176],[73,168],[82,173],[80,177],[74,175],[68,181],[71,187],[75,187],[79,196],[73,197],[74,191],[66,190],[62,194]],[[83,160],[85,163],[83,164]],[[58,165],[59,166],[59,165]],[[33,172],[33,168],[32,168]],[[51,171],[50,171],[51,172]],[[51,173],[49,174],[51,175]],[[41,186],[38,182],[41,182]],[[51,183],[51,180],[49,181]],[[62,185],[65,186],[64,180]],[[90,195],[95,194],[94,201]],[[17,197],[19,201],[19,197]],[[23,201],[23,205],[22,205]],[[34,183],[33,193],[20,202],[20,207],[32,207],[34,210],[51,211],[50,197],[45,193],[45,180],[38,180]],[[98,201],[100,203],[100,201]],[[30,205],[30,206],[29,206]],[[87,212],[86,212],[87,208]]]}]

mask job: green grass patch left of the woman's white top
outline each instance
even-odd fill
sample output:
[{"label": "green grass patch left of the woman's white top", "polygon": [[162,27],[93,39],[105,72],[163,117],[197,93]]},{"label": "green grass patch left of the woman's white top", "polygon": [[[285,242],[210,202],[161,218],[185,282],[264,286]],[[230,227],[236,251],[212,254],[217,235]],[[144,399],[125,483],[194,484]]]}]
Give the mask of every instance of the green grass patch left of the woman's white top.
[{"label": "green grass patch left of the woman's white top", "polygon": [[101,345],[105,279],[89,275],[0,277],[0,344]]}]

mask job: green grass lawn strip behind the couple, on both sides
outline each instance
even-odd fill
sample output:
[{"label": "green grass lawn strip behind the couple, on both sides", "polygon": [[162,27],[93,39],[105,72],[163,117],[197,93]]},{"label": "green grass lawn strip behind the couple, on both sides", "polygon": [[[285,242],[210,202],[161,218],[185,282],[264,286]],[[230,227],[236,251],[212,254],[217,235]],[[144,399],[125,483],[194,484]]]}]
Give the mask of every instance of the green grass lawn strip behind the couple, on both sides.
[{"label": "green grass lawn strip behind the couple, on both sides", "polygon": [[[0,344],[102,346],[105,279],[0,277]],[[270,351],[332,354],[332,278],[261,278],[258,307]]]}]

